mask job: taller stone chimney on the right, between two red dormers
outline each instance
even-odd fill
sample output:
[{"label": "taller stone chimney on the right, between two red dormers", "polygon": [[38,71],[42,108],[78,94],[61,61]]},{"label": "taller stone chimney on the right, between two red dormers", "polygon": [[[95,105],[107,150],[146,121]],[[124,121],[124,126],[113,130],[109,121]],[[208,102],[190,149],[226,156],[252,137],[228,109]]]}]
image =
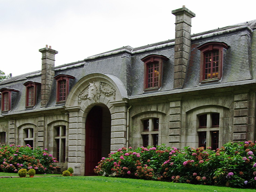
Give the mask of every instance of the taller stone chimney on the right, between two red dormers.
[{"label": "taller stone chimney on the right, between two red dormers", "polygon": [[175,19],[174,89],[181,89],[186,77],[191,43],[191,18],[195,13],[183,6],[172,11]]}]

